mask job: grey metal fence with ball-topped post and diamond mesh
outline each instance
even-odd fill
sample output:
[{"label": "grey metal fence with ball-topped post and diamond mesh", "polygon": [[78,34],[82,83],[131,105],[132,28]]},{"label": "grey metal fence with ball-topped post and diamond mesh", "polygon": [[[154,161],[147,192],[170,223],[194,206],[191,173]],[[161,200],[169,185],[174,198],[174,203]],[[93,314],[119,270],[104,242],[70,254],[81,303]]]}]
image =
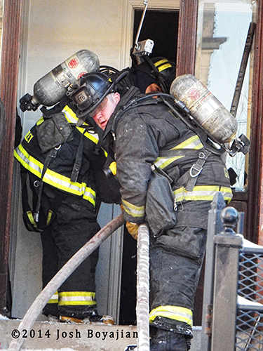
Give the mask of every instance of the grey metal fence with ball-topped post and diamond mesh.
[{"label": "grey metal fence with ball-topped post and diamond mesh", "polygon": [[262,303],[263,246],[243,238],[243,213],[219,194],[208,220],[201,350],[263,350]]}]

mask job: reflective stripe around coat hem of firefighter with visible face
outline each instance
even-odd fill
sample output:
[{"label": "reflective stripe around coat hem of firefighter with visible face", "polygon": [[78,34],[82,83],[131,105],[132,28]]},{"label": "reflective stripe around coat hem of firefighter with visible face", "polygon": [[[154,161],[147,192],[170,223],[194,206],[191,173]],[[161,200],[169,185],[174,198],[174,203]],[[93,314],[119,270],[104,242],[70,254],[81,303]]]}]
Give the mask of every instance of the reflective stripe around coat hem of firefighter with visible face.
[{"label": "reflective stripe around coat hem of firefighter with visible face", "polygon": [[179,201],[212,201],[215,194],[221,192],[225,201],[230,201],[233,197],[230,187],[220,187],[216,185],[197,185],[191,192],[185,190],[184,187],[180,187],[173,191],[175,200]]}]

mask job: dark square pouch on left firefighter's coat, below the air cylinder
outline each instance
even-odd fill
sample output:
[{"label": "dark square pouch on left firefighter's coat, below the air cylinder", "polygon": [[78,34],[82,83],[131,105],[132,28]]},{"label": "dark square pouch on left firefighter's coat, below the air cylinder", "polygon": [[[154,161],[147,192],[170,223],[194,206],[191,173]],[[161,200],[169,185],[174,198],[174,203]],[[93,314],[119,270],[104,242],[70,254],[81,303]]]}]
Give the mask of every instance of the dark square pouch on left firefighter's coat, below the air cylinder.
[{"label": "dark square pouch on left firefighter's coat, below the air cylinder", "polygon": [[64,144],[66,141],[72,141],[72,127],[65,119],[65,114],[59,112],[36,126],[36,137],[41,152],[44,153]]}]

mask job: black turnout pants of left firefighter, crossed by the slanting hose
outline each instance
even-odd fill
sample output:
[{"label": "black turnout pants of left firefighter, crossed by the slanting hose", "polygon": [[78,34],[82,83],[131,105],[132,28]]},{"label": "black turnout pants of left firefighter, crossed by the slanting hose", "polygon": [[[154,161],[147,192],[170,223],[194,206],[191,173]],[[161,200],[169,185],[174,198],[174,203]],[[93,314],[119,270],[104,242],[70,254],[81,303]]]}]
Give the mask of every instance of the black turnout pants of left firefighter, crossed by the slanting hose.
[{"label": "black turnout pants of left firefighter, crossed by the slanting hose", "polygon": [[[55,219],[48,230],[41,233],[43,246],[43,287],[86,244],[100,226],[92,219],[75,219],[61,223]],[[43,314],[84,318],[95,311],[95,268],[98,259],[96,249],[60,286],[50,299]]]}]

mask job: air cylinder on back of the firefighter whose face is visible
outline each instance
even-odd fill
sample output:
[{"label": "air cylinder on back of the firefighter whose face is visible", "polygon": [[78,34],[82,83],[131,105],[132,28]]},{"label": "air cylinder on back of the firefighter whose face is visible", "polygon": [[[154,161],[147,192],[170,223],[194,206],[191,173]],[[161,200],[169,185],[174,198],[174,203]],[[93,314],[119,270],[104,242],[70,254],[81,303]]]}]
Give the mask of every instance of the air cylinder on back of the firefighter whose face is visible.
[{"label": "air cylinder on back of the firefighter whose face is visible", "polygon": [[184,102],[191,116],[219,143],[234,140],[236,119],[195,76],[184,74],[175,78],[170,95]]}]

